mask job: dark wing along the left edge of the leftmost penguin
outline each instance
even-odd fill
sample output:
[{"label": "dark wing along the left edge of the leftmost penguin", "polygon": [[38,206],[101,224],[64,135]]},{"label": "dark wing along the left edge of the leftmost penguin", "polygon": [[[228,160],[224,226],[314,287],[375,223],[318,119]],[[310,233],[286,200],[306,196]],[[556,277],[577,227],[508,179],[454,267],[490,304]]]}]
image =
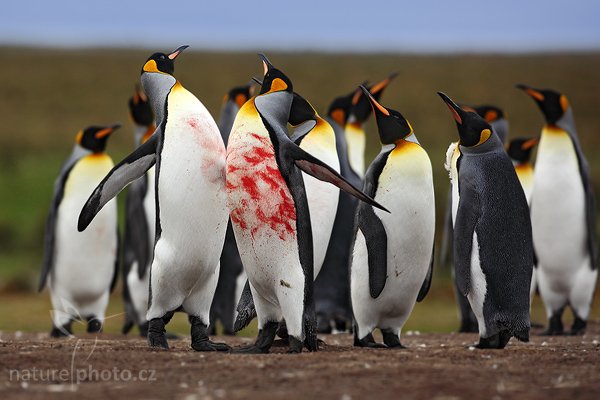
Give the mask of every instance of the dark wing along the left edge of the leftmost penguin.
[{"label": "dark wing along the left edge of the leftmost penguin", "polygon": [[52,202],[50,203],[50,209],[48,210],[48,217],[46,218],[46,229],[44,232],[44,259],[42,261],[42,273],[40,274],[40,280],[38,283],[38,292],[41,292],[46,286],[46,280],[48,274],[54,266],[54,245],[56,239],[56,219],[58,218],[58,207],[64,196],[65,183],[69,178],[69,174],[75,166],[76,162],[70,163],[70,165],[63,169],[63,172],[59,175],[56,182],[54,182],[54,194],[52,196]]}]

